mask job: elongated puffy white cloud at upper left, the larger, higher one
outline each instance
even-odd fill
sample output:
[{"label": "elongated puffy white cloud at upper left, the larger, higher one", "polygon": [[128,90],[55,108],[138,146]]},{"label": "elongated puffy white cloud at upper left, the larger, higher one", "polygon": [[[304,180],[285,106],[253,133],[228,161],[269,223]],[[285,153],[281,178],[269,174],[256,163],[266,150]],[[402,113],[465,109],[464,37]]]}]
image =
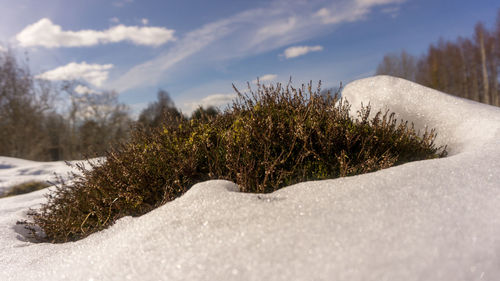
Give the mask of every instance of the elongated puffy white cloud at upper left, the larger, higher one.
[{"label": "elongated puffy white cloud at upper left, the larger, higher one", "polygon": [[53,24],[50,19],[43,18],[25,27],[16,35],[16,39],[23,47],[82,47],[121,41],[130,41],[138,45],[159,46],[175,40],[174,32],[174,30],[163,27],[137,27],[122,24],[104,31],[65,31],[62,30],[61,26]]}]

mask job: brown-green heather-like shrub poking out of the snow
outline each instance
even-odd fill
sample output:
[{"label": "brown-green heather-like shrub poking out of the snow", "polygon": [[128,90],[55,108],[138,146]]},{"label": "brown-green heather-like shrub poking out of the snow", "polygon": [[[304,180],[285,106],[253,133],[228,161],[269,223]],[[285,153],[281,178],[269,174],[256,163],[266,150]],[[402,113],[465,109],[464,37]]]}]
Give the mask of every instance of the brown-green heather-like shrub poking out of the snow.
[{"label": "brown-green heather-like shrub poking out of the snow", "polygon": [[434,131],[420,136],[389,112],[370,118],[369,106],[351,118],[347,101],[320,95],[319,86],[235,90],[238,98],[221,114],[166,115],[157,128],[136,128],[105,162],[78,166],[82,174],[58,185],[31,210],[32,222],[22,223],[38,240],[73,241],[149,212],[200,181],[227,179],[243,192],[273,192],[446,155],[434,146]]}]

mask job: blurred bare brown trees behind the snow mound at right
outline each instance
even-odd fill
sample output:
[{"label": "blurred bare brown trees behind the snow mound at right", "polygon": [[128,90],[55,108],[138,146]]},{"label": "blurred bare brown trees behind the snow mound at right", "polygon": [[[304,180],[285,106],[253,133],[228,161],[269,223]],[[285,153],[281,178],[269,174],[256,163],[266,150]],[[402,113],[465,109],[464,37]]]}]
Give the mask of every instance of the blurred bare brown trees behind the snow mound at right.
[{"label": "blurred bare brown trees behind the snow mound at right", "polygon": [[440,39],[420,57],[401,53],[384,56],[376,74],[408,79],[474,101],[500,106],[500,10],[495,26],[478,22],[471,38]]}]

